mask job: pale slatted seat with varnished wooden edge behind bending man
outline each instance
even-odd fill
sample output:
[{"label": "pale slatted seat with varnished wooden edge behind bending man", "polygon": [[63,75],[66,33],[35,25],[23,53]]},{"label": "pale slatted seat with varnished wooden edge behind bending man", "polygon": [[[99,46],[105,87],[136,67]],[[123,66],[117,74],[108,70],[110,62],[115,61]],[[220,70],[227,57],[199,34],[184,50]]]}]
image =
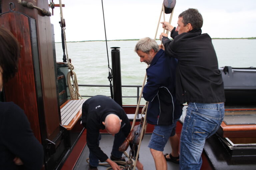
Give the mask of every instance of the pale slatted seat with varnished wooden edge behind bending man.
[{"label": "pale slatted seat with varnished wooden edge behind bending man", "polygon": [[71,130],[82,116],[82,105],[85,99],[67,100],[60,106],[61,125]]}]

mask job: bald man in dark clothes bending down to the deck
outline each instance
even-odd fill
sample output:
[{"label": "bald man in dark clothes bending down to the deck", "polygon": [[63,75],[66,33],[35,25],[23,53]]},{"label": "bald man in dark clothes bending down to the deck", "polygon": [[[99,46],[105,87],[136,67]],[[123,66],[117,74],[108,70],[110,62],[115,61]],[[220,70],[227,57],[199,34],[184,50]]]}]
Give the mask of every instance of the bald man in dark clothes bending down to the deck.
[{"label": "bald man in dark clothes bending down to the deck", "polygon": [[[123,108],[113,99],[97,95],[86,100],[82,106],[82,124],[87,129],[87,146],[89,148],[89,170],[97,170],[99,160],[108,162],[113,170],[121,170],[112,160],[121,160],[123,152],[118,148],[128,136],[131,125]],[[106,129],[115,136],[110,159],[99,147],[101,139],[100,129]],[[138,161],[136,167],[143,170],[143,165]]]}]

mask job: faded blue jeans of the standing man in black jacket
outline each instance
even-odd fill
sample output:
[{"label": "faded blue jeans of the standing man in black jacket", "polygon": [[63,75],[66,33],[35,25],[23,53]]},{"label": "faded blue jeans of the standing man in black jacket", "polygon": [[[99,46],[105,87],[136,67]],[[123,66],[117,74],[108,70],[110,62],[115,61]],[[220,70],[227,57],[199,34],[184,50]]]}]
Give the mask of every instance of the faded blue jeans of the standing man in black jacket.
[{"label": "faded blue jeans of the standing man in black jacket", "polygon": [[189,103],[180,136],[180,170],[200,170],[205,139],[224,118],[224,103]]}]

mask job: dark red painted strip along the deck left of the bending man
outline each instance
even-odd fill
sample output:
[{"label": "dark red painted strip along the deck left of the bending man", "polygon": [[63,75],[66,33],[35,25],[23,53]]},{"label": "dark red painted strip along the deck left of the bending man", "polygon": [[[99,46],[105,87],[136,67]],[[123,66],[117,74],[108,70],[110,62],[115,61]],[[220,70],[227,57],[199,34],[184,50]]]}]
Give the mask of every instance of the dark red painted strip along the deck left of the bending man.
[{"label": "dark red painted strip along the deck left of the bending man", "polygon": [[86,145],[86,129],[83,131],[75,147],[72,149],[70,155],[62,166],[61,170],[71,170],[75,167],[84,147]]}]

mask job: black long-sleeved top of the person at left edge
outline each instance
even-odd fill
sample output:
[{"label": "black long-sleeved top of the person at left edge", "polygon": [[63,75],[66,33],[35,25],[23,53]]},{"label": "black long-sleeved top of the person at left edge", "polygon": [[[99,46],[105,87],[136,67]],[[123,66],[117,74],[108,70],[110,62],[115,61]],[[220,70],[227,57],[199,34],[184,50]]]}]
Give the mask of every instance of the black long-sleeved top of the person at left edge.
[{"label": "black long-sleeved top of the person at left edge", "polygon": [[[15,165],[19,157],[24,165]],[[13,102],[0,102],[0,169],[41,170],[44,151],[24,111]]]}]

